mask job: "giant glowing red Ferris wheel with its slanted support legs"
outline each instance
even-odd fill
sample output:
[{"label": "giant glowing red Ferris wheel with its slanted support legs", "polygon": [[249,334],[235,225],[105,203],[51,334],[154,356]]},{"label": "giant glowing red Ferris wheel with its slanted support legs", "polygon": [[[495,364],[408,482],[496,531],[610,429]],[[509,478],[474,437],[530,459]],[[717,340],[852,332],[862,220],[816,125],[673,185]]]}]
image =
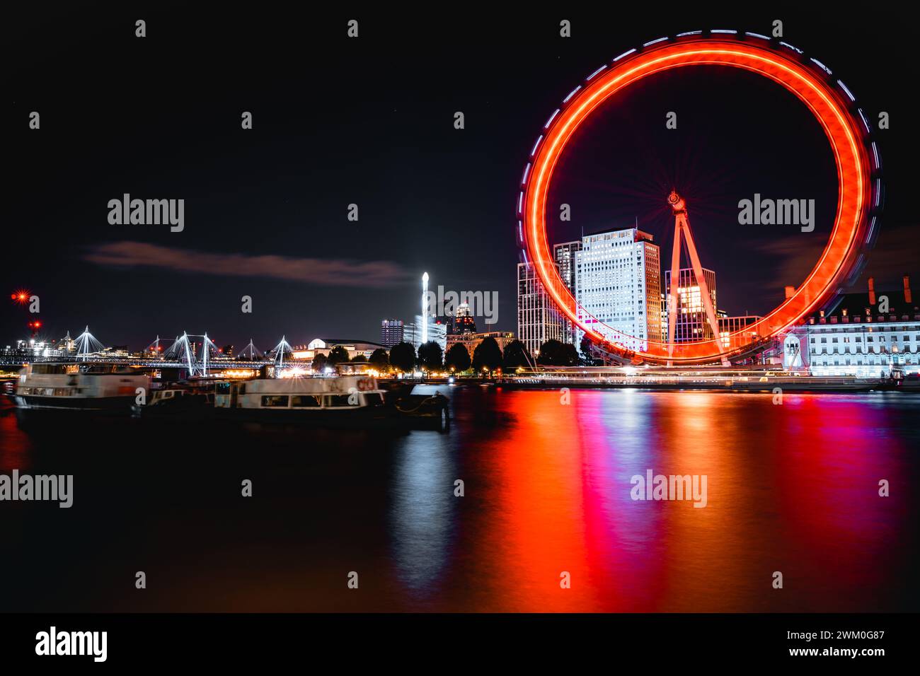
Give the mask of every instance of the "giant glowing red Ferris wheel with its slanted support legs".
[{"label": "giant glowing red Ferris wheel with its slanted support legs", "polygon": [[[549,187],[566,144],[581,123],[605,101],[615,100],[618,92],[650,75],[699,65],[733,66],[764,75],[784,86],[811,110],[834,153],[838,184],[834,227],[805,281],[755,323],[722,335],[713,326],[712,338],[692,342],[675,343],[673,332],[669,332],[667,338],[643,341],[646,349],[627,349],[624,343],[632,337],[585,311],[559,275],[546,237]],[[616,359],[632,363],[725,363],[763,349],[777,334],[822,307],[855,280],[865,264],[863,251],[878,231],[882,202],[880,168],[879,151],[871,139],[865,113],[858,108],[856,97],[823,63],[807,58],[787,42],[756,33],[690,31],[674,38],[651,40],[641,48],[621,54],[590,74],[550,115],[523,172],[517,202],[519,243],[526,261],[533,265],[559,311]],[[675,246],[679,246],[686,209],[676,193],[668,196],[668,200],[675,214]],[[687,238],[684,241],[692,246],[688,223],[684,236]],[[694,267],[699,267],[698,258]],[[701,277],[697,279],[702,281]],[[708,298],[707,293],[701,295]],[[715,325],[709,307],[707,320]],[[623,342],[617,340],[618,336],[624,338]]]}]

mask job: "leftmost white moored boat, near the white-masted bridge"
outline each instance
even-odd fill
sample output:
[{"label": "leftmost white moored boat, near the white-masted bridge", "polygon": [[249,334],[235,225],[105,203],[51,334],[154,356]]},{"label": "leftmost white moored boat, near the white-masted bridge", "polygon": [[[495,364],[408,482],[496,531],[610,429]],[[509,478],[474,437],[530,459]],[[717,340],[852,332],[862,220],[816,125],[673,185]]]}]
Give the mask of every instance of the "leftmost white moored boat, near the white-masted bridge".
[{"label": "leftmost white moored boat, near the white-masted bridge", "polygon": [[14,398],[22,410],[91,410],[129,413],[146,372],[123,364],[30,363],[19,372]]}]

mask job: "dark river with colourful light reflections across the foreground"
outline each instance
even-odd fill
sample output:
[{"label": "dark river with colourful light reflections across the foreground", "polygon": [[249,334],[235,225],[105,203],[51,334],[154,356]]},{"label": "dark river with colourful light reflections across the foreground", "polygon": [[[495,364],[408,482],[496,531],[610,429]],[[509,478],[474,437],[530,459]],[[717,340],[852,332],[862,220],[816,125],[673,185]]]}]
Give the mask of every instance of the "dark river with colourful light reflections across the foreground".
[{"label": "dark river with colourful light reflections across the foreground", "polygon": [[0,502],[0,611],[920,610],[920,395],[448,394],[446,433],[5,408],[0,473],[74,505]]}]

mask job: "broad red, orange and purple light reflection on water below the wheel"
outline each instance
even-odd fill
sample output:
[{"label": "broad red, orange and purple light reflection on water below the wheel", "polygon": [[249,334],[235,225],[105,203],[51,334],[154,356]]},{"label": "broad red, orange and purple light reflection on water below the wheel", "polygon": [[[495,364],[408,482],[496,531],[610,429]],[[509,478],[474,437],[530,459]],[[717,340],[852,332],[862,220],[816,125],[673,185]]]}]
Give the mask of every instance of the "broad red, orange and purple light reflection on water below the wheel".
[{"label": "broad red, orange and purple light reflection on water below the wheel", "polygon": [[[905,430],[885,424],[888,407],[834,395],[789,396],[783,406],[772,395],[723,393],[572,392],[568,405],[558,392],[464,395],[490,396],[508,423],[466,430],[455,452],[475,458],[488,478],[483,509],[465,514],[458,543],[477,556],[465,561],[471,569],[454,571],[454,584],[475,581],[475,589],[450,609],[873,610],[915,602],[894,591],[904,562],[916,559],[905,520],[915,504],[877,493],[878,477],[903,481],[906,463],[916,467],[899,437]],[[905,405],[917,402],[893,406]],[[631,499],[630,477],[647,470],[707,475],[707,507]],[[455,518],[445,522],[452,532]],[[424,528],[434,527],[426,520]],[[886,563],[895,536],[910,548]],[[793,591],[772,588],[776,570]],[[563,572],[570,589],[559,585]],[[915,584],[911,590],[915,597]]]}]

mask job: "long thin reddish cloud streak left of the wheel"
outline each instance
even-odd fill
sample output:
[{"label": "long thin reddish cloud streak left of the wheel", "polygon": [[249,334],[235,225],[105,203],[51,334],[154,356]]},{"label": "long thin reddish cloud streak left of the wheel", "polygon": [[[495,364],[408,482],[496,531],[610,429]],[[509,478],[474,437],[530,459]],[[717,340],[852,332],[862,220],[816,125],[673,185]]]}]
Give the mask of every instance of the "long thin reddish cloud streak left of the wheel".
[{"label": "long thin reddish cloud streak left of the wheel", "polygon": [[236,277],[267,277],[324,286],[394,286],[408,273],[387,260],[367,262],[335,258],[290,258],[248,254],[211,254],[144,242],[112,242],[92,247],[84,258],[98,265],[158,268],[175,272]]}]

